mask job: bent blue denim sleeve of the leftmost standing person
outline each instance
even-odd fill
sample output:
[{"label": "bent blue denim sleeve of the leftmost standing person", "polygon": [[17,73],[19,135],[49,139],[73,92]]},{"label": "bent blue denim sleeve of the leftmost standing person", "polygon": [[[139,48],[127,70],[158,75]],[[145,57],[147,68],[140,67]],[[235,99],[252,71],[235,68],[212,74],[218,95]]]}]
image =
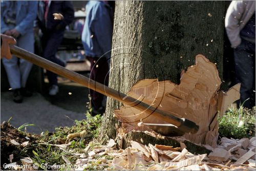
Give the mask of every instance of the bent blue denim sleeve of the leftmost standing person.
[{"label": "bent blue denim sleeve of the leftmost standing person", "polygon": [[27,16],[23,19],[22,22],[19,23],[19,25],[15,27],[15,30],[21,35],[25,34],[25,31],[28,27],[33,26],[33,22],[36,19],[36,15],[37,15],[38,2],[28,1],[28,3],[29,3],[29,8],[28,8]]}]

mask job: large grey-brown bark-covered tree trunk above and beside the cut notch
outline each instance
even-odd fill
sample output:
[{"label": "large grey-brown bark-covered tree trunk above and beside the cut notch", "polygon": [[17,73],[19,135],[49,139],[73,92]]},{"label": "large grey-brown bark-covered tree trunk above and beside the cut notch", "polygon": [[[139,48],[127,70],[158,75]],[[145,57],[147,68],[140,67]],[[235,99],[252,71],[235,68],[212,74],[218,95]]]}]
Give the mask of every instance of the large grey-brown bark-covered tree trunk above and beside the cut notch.
[{"label": "large grey-brown bark-covered tree trunk above and beside the cut notch", "polygon": [[[142,79],[179,84],[180,73],[197,54],[217,64],[222,78],[225,2],[116,2],[109,86],[122,93]],[[99,139],[116,137],[114,109],[108,98]]]}]

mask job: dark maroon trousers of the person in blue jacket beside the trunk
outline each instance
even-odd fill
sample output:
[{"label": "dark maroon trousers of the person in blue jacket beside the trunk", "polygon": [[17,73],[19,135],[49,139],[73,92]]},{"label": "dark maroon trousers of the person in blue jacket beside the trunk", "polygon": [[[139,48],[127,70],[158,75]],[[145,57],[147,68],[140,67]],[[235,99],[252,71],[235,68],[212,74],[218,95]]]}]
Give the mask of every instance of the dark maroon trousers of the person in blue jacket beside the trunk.
[{"label": "dark maroon trousers of the person in blue jacket beside the trunk", "polygon": [[[106,86],[109,85],[109,65],[105,57],[87,57],[91,63],[90,79],[97,81]],[[92,97],[92,106],[98,109],[102,105],[104,95],[90,89]]]}]

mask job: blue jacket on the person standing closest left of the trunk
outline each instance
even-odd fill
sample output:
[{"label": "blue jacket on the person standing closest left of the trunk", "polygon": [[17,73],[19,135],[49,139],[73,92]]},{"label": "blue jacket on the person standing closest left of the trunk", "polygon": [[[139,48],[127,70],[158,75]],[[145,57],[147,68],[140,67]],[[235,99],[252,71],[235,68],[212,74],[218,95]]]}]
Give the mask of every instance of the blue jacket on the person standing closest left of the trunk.
[{"label": "blue jacket on the person standing closest left of the trunk", "polygon": [[83,26],[82,43],[87,56],[109,59],[111,57],[113,12],[102,1],[89,1],[86,5],[86,21]]}]

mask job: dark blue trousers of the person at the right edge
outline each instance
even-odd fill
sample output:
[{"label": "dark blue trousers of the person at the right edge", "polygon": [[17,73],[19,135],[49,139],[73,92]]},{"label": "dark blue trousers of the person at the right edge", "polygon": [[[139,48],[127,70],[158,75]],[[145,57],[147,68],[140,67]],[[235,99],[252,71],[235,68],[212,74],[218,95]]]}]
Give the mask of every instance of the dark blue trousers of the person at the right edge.
[{"label": "dark blue trousers of the person at the right edge", "polygon": [[234,64],[236,82],[241,83],[239,103],[252,108],[255,106],[255,43],[242,39],[234,49]]}]

